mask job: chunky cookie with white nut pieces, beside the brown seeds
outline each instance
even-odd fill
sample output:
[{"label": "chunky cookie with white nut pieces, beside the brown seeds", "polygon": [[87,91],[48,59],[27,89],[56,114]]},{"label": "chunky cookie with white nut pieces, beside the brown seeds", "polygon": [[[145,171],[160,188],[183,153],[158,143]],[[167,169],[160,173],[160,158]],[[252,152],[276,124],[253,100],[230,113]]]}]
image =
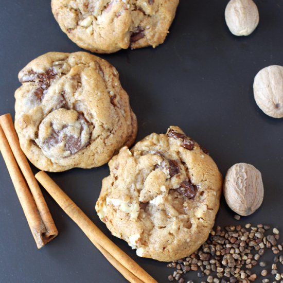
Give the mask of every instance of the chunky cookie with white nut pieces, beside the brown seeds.
[{"label": "chunky cookie with white nut pieces, beside the brown seeds", "polygon": [[222,176],[207,151],[180,128],[153,133],[131,150],[121,148],[109,168],[95,208],[138,256],[177,260],[207,239]]}]

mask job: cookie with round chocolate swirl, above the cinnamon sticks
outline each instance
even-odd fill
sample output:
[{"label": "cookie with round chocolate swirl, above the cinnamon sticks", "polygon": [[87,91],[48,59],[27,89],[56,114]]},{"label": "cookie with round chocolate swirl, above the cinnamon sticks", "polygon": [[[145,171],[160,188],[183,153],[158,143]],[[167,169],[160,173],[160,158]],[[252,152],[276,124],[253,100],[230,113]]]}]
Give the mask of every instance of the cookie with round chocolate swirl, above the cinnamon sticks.
[{"label": "cookie with round chocolate swirl, above the cinnamon sticks", "polygon": [[15,129],[32,164],[58,172],[107,163],[137,121],[117,70],[86,52],[49,52],[19,73]]}]

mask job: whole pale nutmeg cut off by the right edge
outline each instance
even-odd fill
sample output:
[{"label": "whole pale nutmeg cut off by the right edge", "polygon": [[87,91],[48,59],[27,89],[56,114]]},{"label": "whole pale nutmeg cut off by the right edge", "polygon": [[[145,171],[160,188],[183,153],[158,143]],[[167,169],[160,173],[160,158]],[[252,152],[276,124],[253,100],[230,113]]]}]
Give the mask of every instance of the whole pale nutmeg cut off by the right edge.
[{"label": "whole pale nutmeg cut off by the right edge", "polygon": [[258,107],[273,118],[283,117],[283,67],[261,69],[254,80],[254,97]]}]

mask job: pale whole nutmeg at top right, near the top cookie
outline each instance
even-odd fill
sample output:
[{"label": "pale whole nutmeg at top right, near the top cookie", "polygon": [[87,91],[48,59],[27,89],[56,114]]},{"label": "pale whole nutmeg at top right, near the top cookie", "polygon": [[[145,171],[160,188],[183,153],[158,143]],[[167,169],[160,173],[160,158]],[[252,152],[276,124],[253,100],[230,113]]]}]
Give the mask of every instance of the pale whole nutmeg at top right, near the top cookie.
[{"label": "pale whole nutmeg at top right, near the top cookie", "polygon": [[235,36],[249,36],[258,25],[259,14],[252,0],[231,0],[225,9],[225,21]]}]

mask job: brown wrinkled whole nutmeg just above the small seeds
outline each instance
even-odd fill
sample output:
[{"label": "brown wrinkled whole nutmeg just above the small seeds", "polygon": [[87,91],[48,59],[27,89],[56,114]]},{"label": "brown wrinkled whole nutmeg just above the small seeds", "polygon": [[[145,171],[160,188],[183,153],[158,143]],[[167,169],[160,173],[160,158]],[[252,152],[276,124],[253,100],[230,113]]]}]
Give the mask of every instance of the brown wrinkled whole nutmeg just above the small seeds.
[{"label": "brown wrinkled whole nutmeg just above the small seeds", "polygon": [[251,164],[238,163],[226,173],[224,197],[235,213],[247,216],[254,213],[263,201],[261,173]]}]

